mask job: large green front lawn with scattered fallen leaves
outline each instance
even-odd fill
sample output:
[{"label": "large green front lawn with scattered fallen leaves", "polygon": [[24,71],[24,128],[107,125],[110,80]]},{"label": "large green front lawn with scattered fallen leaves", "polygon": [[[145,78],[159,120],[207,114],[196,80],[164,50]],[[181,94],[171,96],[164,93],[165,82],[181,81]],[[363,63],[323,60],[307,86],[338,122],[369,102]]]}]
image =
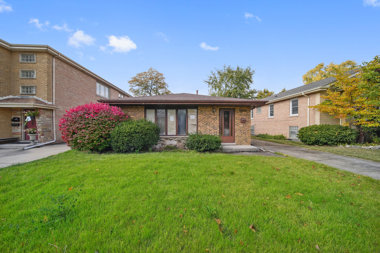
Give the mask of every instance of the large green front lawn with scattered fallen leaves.
[{"label": "large green front lawn with scattered fallen leaves", "polygon": [[0,252],[55,252],[50,228],[67,252],[380,252],[380,181],[307,160],[68,151],[0,176]]}]

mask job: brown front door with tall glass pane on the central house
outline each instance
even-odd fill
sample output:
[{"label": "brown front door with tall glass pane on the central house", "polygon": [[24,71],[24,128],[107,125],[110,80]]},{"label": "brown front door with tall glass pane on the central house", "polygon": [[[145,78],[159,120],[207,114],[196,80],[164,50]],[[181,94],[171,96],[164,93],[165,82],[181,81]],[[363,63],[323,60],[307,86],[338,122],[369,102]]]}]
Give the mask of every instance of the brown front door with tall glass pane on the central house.
[{"label": "brown front door with tall glass pane on the central house", "polygon": [[219,110],[219,134],[222,135],[222,143],[235,142],[235,110]]}]

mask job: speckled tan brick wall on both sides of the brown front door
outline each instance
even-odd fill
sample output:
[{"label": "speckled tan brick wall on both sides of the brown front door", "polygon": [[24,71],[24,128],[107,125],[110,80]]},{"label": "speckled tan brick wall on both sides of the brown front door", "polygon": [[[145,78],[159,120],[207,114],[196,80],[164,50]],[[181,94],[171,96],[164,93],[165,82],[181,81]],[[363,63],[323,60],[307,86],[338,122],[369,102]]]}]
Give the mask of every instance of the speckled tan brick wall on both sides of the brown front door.
[{"label": "speckled tan brick wall on both sides of the brown front door", "polygon": [[[198,131],[203,134],[219,134],[219,109],[235,109],[235,142],[237,145],[250,145],[250,107],[198,107]],[[247,122],[241,123],[240,119],[245,118]]]}]

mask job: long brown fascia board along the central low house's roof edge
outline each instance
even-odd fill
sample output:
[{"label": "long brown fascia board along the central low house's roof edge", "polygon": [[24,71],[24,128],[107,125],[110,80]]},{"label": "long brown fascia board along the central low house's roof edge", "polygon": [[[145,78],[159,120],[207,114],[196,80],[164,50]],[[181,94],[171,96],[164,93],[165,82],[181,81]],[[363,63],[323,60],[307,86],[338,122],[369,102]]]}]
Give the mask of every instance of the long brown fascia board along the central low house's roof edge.
[{"label": "long brown fascia board along the central low house's roof edge", "polygon": [[268,101],[252,100],[252,102],[244,103],[241,101],[215,101],[215,100],[151,100],[151,101],[115,101],[109,99],[101,99],[98,102],[108,103],[110,105],[197,105],[197,106],[258,106],[263,105]]}]

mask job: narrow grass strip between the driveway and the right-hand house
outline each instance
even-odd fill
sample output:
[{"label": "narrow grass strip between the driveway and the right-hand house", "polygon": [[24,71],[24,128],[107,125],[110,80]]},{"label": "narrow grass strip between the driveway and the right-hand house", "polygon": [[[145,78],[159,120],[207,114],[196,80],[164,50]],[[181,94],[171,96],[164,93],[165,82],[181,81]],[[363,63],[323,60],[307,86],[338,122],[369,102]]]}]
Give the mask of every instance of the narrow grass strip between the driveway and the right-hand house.
[{"label": "narrow grass strip between the driveway and the right-hand house", "polygon": [[299,146],[302,148],[314,149],[318,151],[328,152],[332,154],[356,157],[364,160],[370,160],[374,162],[380,162],[380,150],[376,149],[359,149],[359,148],[339,148],[337,146],[314,146],[307,145],[302,143],[301,141],[283,141],[283,140],[274,140],[274,139],[264,139],[258,138],[252,135],[252,139],[263,140],[263,141],[272,141],[276,143],[291,145],[291,146]]}]

